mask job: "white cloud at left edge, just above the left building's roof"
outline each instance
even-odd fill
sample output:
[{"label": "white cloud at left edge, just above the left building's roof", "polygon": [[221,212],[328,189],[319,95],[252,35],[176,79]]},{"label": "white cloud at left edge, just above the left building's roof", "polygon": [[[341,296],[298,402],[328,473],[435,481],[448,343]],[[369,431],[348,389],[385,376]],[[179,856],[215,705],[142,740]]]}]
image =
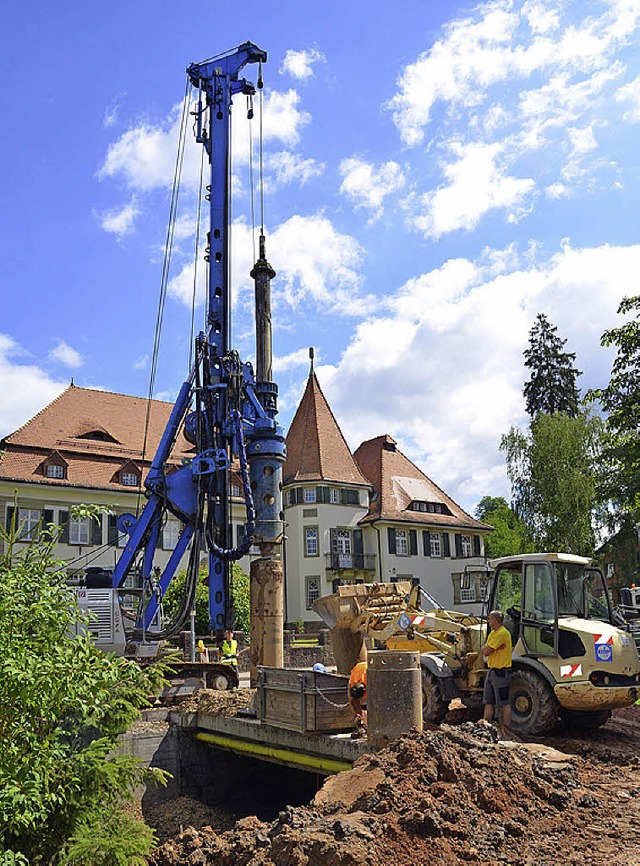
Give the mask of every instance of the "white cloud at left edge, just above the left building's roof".
[{"label": "white cloud at left edge, just above the left building's roof", "polygon": [[52,379],[35,364],[20,364],[14,358],[27,354],[7,334],[0,334],[0,436],[25,424],[69,384]]}]

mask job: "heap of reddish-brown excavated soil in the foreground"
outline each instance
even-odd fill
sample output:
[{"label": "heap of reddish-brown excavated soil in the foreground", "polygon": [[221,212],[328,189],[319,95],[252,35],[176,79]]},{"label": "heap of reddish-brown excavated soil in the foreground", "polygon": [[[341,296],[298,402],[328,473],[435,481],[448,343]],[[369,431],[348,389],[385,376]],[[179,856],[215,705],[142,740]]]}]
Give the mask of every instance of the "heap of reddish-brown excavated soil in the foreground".
[{"label": "heap of reddish-brown excavated soil in the foreground", "polygon": [[640,707],[537,743],[498,742],[484,722],[412,732],[271,823],[226,829],[215,810],[173,805],[179,832],[150,866],[638,866]]}]

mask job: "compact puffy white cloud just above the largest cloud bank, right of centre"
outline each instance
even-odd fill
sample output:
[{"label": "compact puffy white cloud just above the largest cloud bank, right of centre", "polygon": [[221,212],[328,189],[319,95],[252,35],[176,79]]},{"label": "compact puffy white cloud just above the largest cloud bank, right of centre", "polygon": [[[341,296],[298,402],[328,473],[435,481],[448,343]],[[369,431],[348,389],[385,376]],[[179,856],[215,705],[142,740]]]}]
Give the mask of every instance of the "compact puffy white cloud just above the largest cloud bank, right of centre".
[{"label": "compact puffy white cloud just above the largest cloud bank, right of centre", "polygon": [[515,221],[524,212],[534,187],[531,178],[509,175],[501,164],[498,144],[453,143],[455,161],[444,163],[447,186],[424,193],[419,202],[408,200],[410,221],[428,237],[438,238],[455,229],[472,229],[488,211],[507,210]]}]

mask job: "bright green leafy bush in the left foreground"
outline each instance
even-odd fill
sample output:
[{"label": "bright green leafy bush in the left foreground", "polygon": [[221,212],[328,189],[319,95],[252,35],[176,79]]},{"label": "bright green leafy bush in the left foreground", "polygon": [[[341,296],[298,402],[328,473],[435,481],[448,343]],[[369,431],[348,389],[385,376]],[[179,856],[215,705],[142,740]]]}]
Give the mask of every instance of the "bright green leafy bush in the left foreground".
[{"label": "bright green leafy bush in the left foreground", "polygon": [[[134,786],[158,774],[114,754],[114,747],[162,670],[142,671],[104,655],[87,636],[72,637],[80,613],[53,557],[56,532],[42,531],[28,545],[16,544],[17,535],[15,525],[0,530],[4,862],[13,855],[16,863],[63,866],[79,862],[81,847],[84,866],[142,863],[153,833],[123,806]],[[88,840],[98,838],[101,853],[94,858]]]}]

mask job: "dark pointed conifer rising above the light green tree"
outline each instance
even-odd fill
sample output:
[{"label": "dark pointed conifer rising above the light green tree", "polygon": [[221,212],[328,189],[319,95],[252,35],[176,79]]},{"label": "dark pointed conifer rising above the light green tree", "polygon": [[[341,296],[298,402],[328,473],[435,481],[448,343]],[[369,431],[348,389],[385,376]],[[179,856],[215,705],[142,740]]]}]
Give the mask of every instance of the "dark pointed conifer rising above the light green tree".
[{"label": "dark pointed conifer rising above the light green tree", "polygon": [[531,374],[523,393],[531,418],[539,413],[564,412],[572,418],[578,414],[580,394],[576,380],[582,374],[573,366],[575,353],[564,351],[567,341],[558,337],[557,330],[544,313],[539,313],[529,332],[524,365]]}]

